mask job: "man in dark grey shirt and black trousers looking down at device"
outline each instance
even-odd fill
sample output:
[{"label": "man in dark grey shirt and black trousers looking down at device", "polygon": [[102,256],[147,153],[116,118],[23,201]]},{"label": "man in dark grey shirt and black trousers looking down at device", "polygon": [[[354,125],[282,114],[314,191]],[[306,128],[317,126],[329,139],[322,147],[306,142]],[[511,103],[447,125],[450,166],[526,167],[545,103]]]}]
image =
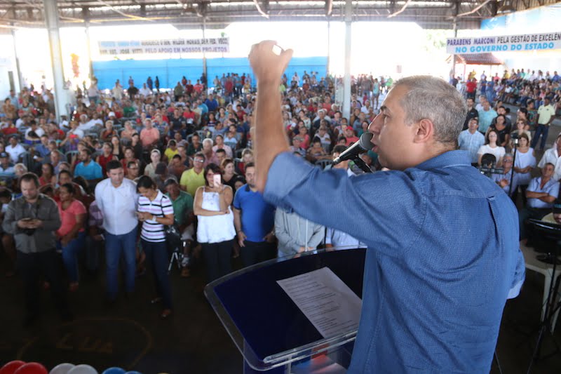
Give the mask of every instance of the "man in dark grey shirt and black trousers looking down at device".
[{"label": "man in dark grey shirt and black trousers looking down at device", "polygon": [[23,277],[26,315],[24,326],[39,316],[39,274],[50,282],[53,300],[64,321],[72,318],[62,286],[60,260],[55,252],[55,231],[60,215],[55,201],[39,193],[39,178],[25,173],[20,178],[22,196],[12,200],[2,227],[12,234],[18,250],[16,264]]}]

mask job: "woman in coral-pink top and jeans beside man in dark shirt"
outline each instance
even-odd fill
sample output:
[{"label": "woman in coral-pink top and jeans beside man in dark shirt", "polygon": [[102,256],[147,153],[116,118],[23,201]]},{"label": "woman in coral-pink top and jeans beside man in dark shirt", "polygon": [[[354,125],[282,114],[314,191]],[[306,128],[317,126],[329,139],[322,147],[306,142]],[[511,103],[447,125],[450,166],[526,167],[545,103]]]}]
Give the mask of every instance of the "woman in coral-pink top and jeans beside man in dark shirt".
[{"label": "woman in coral-pink top and jeans beside man in dark shirt", "polygon": [[65,183],[60,186],[58,213],[62,224],[56,232],[58,249],[62,249],[62,261],[70,281],[69,290],[78,289],[78,253],[85,246],[86,207],[74,199],[74,185]]}]

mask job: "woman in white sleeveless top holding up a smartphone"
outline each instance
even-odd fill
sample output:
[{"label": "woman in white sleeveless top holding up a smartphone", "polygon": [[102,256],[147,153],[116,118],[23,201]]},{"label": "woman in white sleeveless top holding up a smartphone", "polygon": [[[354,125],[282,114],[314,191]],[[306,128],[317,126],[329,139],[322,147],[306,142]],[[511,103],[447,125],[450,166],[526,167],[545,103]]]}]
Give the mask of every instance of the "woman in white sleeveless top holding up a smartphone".
[{"label": "woman in white sleeveless top holding up a smartphone", "polygon": [[198,187],[194,199],[197,240],[203,246],[209,282],[231,272],[230,257],[236,236],[230,208],[233,199],[231,187],[222,184],[219,166],[209,163],[205,167],[205,185]]}]

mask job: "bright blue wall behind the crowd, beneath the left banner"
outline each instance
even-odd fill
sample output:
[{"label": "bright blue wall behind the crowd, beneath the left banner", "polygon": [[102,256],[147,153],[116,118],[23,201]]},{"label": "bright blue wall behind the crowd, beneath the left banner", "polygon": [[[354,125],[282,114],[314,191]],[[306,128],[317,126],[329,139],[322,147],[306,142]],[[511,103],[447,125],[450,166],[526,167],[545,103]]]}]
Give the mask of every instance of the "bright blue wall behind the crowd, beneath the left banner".
[{"label": "bright blue wall behind the crowd, beneath the left banner", "polygon": [[[231,72],[237,74],[250,74],[251,68],[247,58],[210,58],[206,60],[208,80],[212,85],[215,76]],[[318,72],[318,79],[327,74],[327,57],[292,58],[286,69],[290,78],[294,72],[302,77],[306,72]],[[173,88],[182,76],[191,79],[193,84],[201,77],[203,72],[202,59],[167,59],[167,60],[114,60],[94,61],[93,72],[98,80],[100,89],[113,88],[117,79],[121,80],[123,87],[128,87],[128,77],[132,76],[135,86],[142,87],[148,76],[152,80],[160,79],[161,88]],[[252,75],[252,74],[251,74]],[[255,84],[255,79],[252,79]]]}]

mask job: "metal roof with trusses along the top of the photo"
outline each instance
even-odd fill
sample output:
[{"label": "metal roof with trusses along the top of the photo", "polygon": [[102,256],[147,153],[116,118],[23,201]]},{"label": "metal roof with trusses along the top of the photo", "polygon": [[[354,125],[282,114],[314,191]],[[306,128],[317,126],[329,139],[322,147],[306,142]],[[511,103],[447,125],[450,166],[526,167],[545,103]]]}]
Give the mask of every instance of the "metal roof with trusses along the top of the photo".
[{"label": "metal roof with trusses along the top of the photo", "polygon": [[[556,4],[557,0],[509,0],[516,10]],[[256,4],[259,4],[260,11]],[[342,0],[62,0],[57,1],[60,25],[130,25],[171,23],[181,28],[227,25],[239,21],[344,20]],[[478,0],[353,1],[353,21],[417,22],[426,29],[477,29],[496,15],[497,4],[480,7]],[[330,10],[330,11],[329,11]],[[328,14],[329,13],[329,14]],[[461,15],[456,17],[456,15]],[[391,16],[391,17],[390,17]],[[45,27],[42,1],[0,2],[0,27]]]}]

